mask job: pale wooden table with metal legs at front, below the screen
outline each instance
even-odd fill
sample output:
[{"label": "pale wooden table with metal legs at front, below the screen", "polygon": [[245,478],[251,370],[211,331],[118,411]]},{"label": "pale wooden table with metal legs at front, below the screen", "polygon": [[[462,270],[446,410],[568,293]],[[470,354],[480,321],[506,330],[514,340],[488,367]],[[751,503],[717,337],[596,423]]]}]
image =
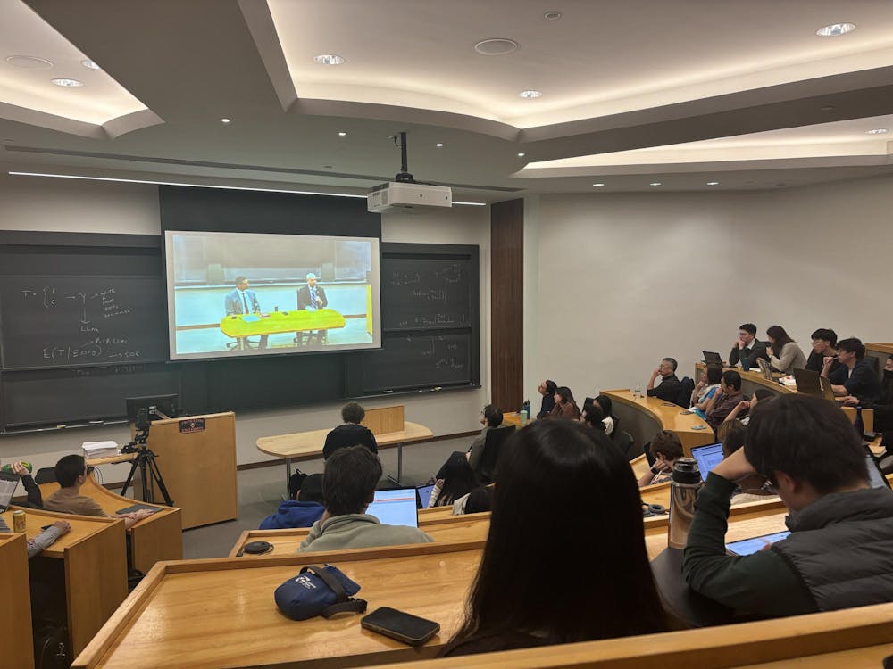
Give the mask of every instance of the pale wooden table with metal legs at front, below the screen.
[{"label": "pale wooden table with metal legs at front, below the screen", "polygon": [[[418,423],[404,420],[403,406],[366,409],[366,417],[362,425],[368,427],[375,435],[379,450],[396,447],[396,481],[403,478],[403,445],[412,442],[424,442],[434,434],[429,428]],[[257,440],[257,450],[275,458],[285,459],[286,490],[291,480],[292,460],[317,460],[322,458],[322,446],[326,442],[326,434],[331,428],[279,434],[272,437],[261,437]]]}]

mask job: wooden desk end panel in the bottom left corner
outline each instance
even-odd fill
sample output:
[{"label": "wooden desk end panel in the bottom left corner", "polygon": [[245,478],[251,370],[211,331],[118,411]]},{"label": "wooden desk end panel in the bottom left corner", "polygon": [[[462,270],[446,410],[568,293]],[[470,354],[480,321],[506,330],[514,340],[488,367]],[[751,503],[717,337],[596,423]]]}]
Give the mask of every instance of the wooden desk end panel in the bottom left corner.
[{"label": "wooden desk end panel in the bottom left corner", "polygon": [[[13,526],[8,521],[7,524]],[[0,592],[5,602],[0,607],[0,630],[3,631],[0,658],[4,666],[32,667],[34,647],[25,534],[0,534]]]}]

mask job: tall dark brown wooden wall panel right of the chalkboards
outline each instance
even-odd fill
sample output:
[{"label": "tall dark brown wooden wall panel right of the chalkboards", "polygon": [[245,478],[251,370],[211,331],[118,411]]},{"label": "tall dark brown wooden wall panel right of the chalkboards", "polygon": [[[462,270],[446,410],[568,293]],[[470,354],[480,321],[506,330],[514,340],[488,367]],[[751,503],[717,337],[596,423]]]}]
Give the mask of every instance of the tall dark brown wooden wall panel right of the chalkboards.
[{"label": "tall dark brown wooden wall panel right of the chalkboards", "polygon": [[524,395],[524,201],[490,207],[491,401],[521,408]]}]

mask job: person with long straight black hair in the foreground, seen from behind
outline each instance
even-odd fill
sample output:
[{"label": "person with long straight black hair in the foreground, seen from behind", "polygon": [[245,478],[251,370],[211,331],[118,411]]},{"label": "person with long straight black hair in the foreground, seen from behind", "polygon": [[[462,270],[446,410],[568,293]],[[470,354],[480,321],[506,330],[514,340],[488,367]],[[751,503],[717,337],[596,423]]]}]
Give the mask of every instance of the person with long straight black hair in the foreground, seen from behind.
[{"label": "person with long straight black hair in the foreground, seen from behind", "polygon": [[[567,420],[512,440],[463,624],[440,655],[665,631],[626,458]],[[555,560],[568,582],[549,574]]]}]

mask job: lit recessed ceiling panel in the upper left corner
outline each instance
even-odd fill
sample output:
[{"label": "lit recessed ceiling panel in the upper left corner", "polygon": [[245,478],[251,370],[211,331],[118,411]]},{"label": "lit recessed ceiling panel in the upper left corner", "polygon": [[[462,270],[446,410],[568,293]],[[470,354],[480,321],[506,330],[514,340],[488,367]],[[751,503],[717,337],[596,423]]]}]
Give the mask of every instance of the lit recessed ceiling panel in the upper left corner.
[{"label": "lit recessed ceiling panel in the upper left corner", "polygon": [[[0,67],[2,103],[96,126],[146,109],[103,70],[85,66],[84,62],[92,62],[87,55],[21,0],[4,0],[0,5],[0,45],[6,52],[4,58],[13,56],[13,62],[8,58],[6,62],[15,65]],[[22,67],[22,61],[14,61],[16,56],[27,56],[44,65]],[[54,86],[52,79],[78,80],[83,87]],[[37,116],[33,124],[43,125]]]}]

